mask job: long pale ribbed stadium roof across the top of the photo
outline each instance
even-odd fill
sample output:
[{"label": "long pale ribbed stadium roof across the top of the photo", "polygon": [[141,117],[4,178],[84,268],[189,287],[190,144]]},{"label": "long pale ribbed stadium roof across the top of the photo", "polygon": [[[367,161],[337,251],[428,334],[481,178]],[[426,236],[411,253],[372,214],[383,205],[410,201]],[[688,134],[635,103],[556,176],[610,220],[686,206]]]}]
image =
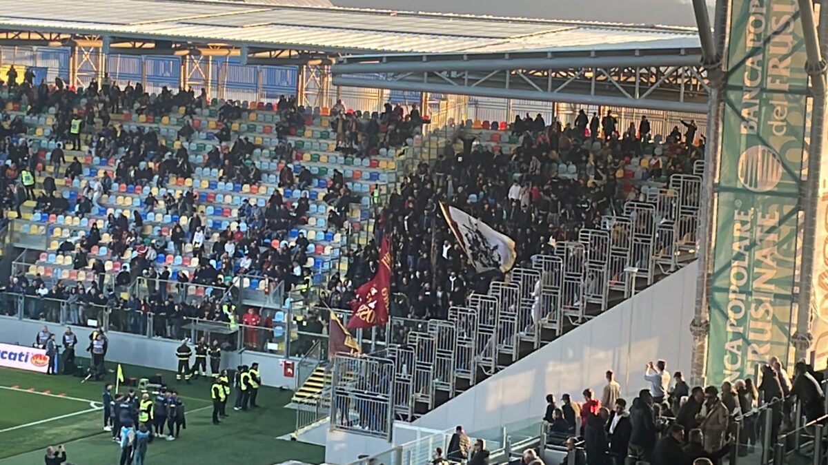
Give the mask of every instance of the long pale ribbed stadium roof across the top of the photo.
[{"label": "long pale ribbed stadium roof across the top of the photo", "polygon": [[330,54],[697,49],[693,28],[396,12],[326,0],[0,0],[0,29]]}]

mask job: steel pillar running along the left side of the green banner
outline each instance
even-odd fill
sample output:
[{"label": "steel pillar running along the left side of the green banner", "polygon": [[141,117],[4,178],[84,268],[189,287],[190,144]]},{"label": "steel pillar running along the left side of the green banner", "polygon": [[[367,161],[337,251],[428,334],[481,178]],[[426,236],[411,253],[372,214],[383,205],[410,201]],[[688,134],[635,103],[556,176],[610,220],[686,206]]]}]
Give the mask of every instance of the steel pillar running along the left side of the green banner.
[{"label": "steel pillar running along the left side of the green banner", "polygon": [[[698,5],[702,3],[702,5]],[[694,7],[704,7],[705,2],[694,2]],[[707,338],[710,332],[710,309],[707,306],[707,285],[710,281],[710,263],[713,255],[713,229],[715,228],[715,178],[718,176],[719,151],[721,146],[721,117],[722,117],[722,89],[724,87],[724,70],[722,69],[721,57],[724,55],[724,31],[727,28],[729,2],[717,0],[715,6],[715,29],[716,43],[715,53],[712,62],[705,62],[710,81],[710,98],[707,110],[707,144],[705,146],[705,171],[702,175],[702,189],[700,193],[700,205],[709,205],[705,213],[699,218],[699,234],[696,237],[698,242],[698,265],[699,276],[696,280],[696,314],[691,322],[691,333],[693,333],[693,356],[691,363],[691,384],[693,386],[706,386],[705,371],[707,362]],[[696,12],[696,17],[707,17],[705,10],[701,15]],[[702,31],[703,25],[698,25]],[[710,27],[706,29],[710,30]]]}]

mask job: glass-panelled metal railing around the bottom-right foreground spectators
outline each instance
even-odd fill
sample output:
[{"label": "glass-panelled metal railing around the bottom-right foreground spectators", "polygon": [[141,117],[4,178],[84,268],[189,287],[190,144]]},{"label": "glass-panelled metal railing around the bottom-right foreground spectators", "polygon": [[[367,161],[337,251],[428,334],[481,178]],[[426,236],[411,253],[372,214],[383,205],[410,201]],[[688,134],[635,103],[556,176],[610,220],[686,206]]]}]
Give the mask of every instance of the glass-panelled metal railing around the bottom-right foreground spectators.
[{"label": "glass-panelled metal railing around the bottom-right foreground spectators", "polygon": [[[826,386],[823,383],[823,387]],[[749,412],[737,412],[729,418],[727,429],[722,434],[721,453],[730,465],[822,465],[826,458],[826,422],[828,415],[811,421],[806,420],[802,402],[786,403],[782,400],[763,402]],[[784,412],[790,410],[785,416]],[[784,419],[783,419],[784,418]],[[657,421],[657,439],[668,434],[675,421],[672,417],[660,417]],[[576,425],[577,427],[577,425]],[[436,448],[448,453],[453,429],[436,434],[427,434],[414,441],[402,443],[382,453],[362,456],[348,465],[416,465],[434,459]],[[531,448],[539,453],[546,463],[582,465],[583,463],[646,463],[643,457],[617,456],[609,451],[588,451],[585,441],[574,432],[552,432],[550,424],[541,419],[527,419],[503,427],[469,433],[474,444],[482,439],[489,451],[489,463],[516,463],[523,451]],[[571,444],[567,441],[571,439]],[[604,456],[592,457],[593,453]],[[618,460],[618,459],[622,460]],[[451,460],[451,458],[449,458]]]}]

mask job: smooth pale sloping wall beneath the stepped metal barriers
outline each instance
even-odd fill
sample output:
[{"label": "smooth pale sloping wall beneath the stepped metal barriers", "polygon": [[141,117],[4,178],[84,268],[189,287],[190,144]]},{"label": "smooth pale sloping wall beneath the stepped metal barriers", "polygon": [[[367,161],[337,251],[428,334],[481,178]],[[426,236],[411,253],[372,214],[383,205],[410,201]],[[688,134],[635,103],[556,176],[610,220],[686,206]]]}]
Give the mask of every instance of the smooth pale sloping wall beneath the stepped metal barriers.
[{"label": "smooth pale sloping wall beneath the stepped metal barriers", "polygon": [[[570,394],[582,401],[591,387],[600,398],[611,369],[621,395],[632,400],[649,384],[643,379],[647,362],[667,361],[672,373],[688,373],[693,338],[690,324],[696,303],[698,264],[693,261],[665,279],[624,300],[604,314],[564,334],[540,350],[498,372],[473,389],[440,405],[410,426],[446,430],[458,424],[470,432],[502,428],[528,419],[541,419],[546,395]],[[381,453],[410,440],[397,437],[393,444],[361,434],[329,431],[325,461],[349,463],[360,454]]]}]

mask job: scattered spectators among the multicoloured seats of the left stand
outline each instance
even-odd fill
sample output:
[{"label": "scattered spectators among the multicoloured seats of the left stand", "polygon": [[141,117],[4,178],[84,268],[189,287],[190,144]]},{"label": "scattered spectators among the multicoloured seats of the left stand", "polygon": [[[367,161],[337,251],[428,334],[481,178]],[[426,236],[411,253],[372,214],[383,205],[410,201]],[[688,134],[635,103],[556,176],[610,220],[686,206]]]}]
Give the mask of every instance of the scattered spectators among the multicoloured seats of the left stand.
[{"label": "scattered spectators among the multicoloured seats of the left stand", "polygon": [[[3,143],[0,157],[5,157],[5,175],[0,176],[2,205],[6,209],[16,209],[21,214],[22,204],[27,199],[36,201],[35,211],[41,213],[75,214],[80,218],[91,218],[89,231],[80,237],[69,237],[60,243],[59,255],[71,256],[75,270],[89,270],[93,280],[84,287],[82,283],[68,285],[64,280],[52,280],[38,276],[26,277],[20,273],[12,276],[10,283],[3,288],[8,293],[27,295],[25,314],[33,319],[55,321],[59,311],[58,305],[46,304],[56,300],[67,299],[69,302],[68,322],[83,324],[84,311],[97,314],[98,308],[126,309],[128,313],[113,312],[110,325],[119,330],[132,333],[146,333],[146,315],[156,316],[153,333],[158,336],[177,338],[181,327],[190,318],[214,321],[231,320],[228,312],[222,309],[223,303],[218,297],[232,283],[241,284],[241,276],[258,276],[267,280],[267,291],[284,283],[284,290],[301,290],[308,294],[310,290],[311,270],[308,264],[310,254],[309,240],[303,234],[289,240],[291,228],[301,228],[307,222],[310,202],[307,192],[301,194],[296,204],[283,199],[277,189],[267,199],[265,205],[259,206],[256,199],[243,202],[238,208],[236,228],[214,230],[205,213],[196,208],[198,197],[193,188],[181,189],[174,195],[172,189],[162,195],[156,195],[152,188],[166,187],[170,176],[191,178],[195,167],[191,161],[187,144],[174,149],[171,141],[164,141],[152,128],[134,127],[123,124],[118,113],[137,113],[161,118],[185,108],[184,122],[177,131],[177,139],[190,141],[195,135],[191,117],[199,108],[205,109],[210,101],[205,91],[196,95],[193,89],[180,89],[177,93],[170,89],[161,89],[158,95],[150,95],[141,84],[127,83],[123,89],[108,74],[101,82],[94,79],[84,89],[75,89],[65,85],[60,79],[54,84],[41,82],[35,85],[31,76],[26,76],[22,84],[12,85],[9,98],[20,103],[21,108],[28,108],[27,114],[41,115],[49,112],[53,116],[51,139],[56,146],[50,152],[32,146],[26,137],[16,137],[26,133],[26,127],[19,116],[2,115]],[[12,81],[13,82],[13,81]],[[253,156],[257,146],[247,135],[236,136],[230,130],[233,122],[243,118],[245,111],[241,102],[228,101],[218,108],[217,131],[215,143],[208,147],[205,167],[219,170],[219,180],[238,184],[261,185],[262,170]],[[50,110],[53,108],[53,111]],[[296,152],[288,137],[296,134],[306,124],[306,109],[296,103],[295,98],[282,97],[273,105],[273,111],[279,114],[274,123],[273,134],[278,140],[271,150],[273,161],[282,161],[285,168],[279,173],[279,187],[283,189],[307,189],[311,174],[307,167],[296,176],[291,165]],[[115,116],[115,117],[113,117]],[[420,131],[422,118],[419,111],[412,108],[407,113],[400,105],[386,105],[382,113],[351,112],[338,102],[332,108],[331,129],[337,133],[337,151],[354,156],[372,156],[381,148],[401,146],[411,142],[413,135]],[[341,137],[340,137],[341,136]],[[14,140],[12,142],[12,140]],[[83,179],[83,164],[79,156],[66,160],[66,151],[77,151],[85,146],[85,153],[113,166],[112,175],[103,170],[96,179]],[[200,155],[200,154],[199,154]],[[69,161],[68,164],[66,162]],[[51,170],[46,170],[51,166]],[[35,195],[22,180],[22,170],[32,175],[32,180],[39,181],[43,189]],[[77,200],[69,201],[58,191],[56,177],[71,181],[80,179]],[[133,185],[142,190],[141,208],[133,209],[131,214],[108,213],[99,228],[94,219],[101,218],[111,201],[103,204],[105,195],[113,194],[113,184]],[[172,186],[171,186],[172,187]],[[336,232],[344,228],[347,209],[351,202],[359,202],[352,193],[342,172],[334,170],[327,193],[323,197],[330,204],[328,228]],[[185,226],[169,225],[153,234],[147,234],[144,213],[166,213],[189,218]],[[0,213],[0,221],[5,222],[5,215]],[[152,229],[152,228],[149,228]],[[108,242],[106,242],[106,241]],[[277,246],[272,246],[272,244]],[[108,256],[98,256],[96,251],[108,247]],[[166,263],[156,263],[156,257],[174,251],[179,256],[192,256],[193,271],[171,269]],[[132,252],[128,263],[124,263],[114,276],[106,278],[108,270],[104,261],[124,256]],[[232,276],[239,276],[232,280]],[[131,295],[129,300],[121,300],[113,292],[123,289],[138,277],[147,281],[148,295],[138,299]],[[29,282],[31,279],[31,283]],[[105,281],[105,283],[104,283]],[[195,303],[188,299],[176,300],[170,290],[176,288],[185,292],[186,283],[211,286],[215,288],[212,296]],[[173,292],[172,294],[176,294]],[[218,296],[218,297],[217,297]],[[40,298],[40,299],[37,299]],[[45,300],[44,300],[45,299]],[[40,303],[39,303],[40,302]],[[15,306],[8,307],[13,311]],[[232,319],[243,324],[267,326],[272,323],[272,315],[258,309],[233,315]],[[122,315],[119,317],[118,315]],[[258,338],[246,338],[251,346],[260,346]],[[254,340],[255,339],[255,340]]]}]

